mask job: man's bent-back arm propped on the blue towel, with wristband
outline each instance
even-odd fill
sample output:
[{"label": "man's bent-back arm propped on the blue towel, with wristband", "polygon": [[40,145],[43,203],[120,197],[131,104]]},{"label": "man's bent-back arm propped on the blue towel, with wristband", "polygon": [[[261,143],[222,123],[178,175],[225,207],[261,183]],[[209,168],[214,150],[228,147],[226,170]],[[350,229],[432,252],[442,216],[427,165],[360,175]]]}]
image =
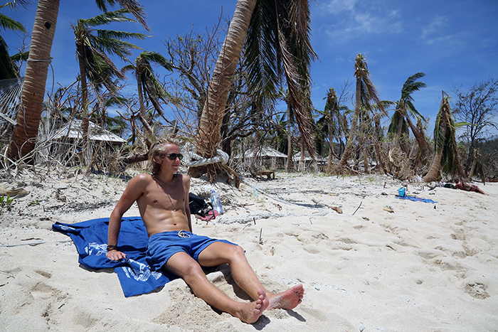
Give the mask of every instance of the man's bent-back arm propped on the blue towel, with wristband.
[{"label": "man's bent-back arm propped on the blue towel, with wristband", "polygon": [[[124,213],[133,205],[135,200],[142,196],[148,183],[148,174],[140,174],[129,181],[128,186],[124,190],[120,200],[117,202],[116,207],[112,210],[109,218],[109,230],[107,234],[108,246],[117,246],[117,237],[120,235],[121,229],[121,219]],[[107,251],[106,256],[114,261],[126,258],[124,252],[111,248]]]}]

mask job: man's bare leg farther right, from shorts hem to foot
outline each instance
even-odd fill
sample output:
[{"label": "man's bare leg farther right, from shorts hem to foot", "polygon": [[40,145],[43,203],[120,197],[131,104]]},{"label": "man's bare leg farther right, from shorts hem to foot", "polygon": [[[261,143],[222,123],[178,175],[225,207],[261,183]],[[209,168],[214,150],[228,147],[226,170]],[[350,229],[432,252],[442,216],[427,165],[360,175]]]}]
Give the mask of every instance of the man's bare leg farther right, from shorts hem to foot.
[{"label": "man's bare leg farther right, from shorts hem to foot", "polygon": [[244,250],[237,245],[214,242],[201,252],[198,262],[206,267],[213,267],[219,264],[230,265],[235,283],[252,299],[258,299],[258,289],[265,291],[270,300],[270,305],[267,309],[291,310],[302,302],[304,295],[302,284],[298,284],[278,294],[265,289],[245,258]]}]

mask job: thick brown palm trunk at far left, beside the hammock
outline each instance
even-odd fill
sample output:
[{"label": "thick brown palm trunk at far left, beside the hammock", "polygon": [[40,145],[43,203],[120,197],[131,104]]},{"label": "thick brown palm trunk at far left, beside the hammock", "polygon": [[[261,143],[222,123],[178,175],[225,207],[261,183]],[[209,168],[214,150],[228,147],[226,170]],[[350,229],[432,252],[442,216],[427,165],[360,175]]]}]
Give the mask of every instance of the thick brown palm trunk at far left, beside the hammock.
[{"label": "thick brown palm trunk at far left, beside the hammock", "polygon": [[[17,112],[18,127],[14,128],[7,151],[7,156],[12,160],[21,159],[35,148],[58,11],[59,0],[38,1],[21,93],[21,107]],[[29,162],[33,163],[34,160],[30,159]]]}]

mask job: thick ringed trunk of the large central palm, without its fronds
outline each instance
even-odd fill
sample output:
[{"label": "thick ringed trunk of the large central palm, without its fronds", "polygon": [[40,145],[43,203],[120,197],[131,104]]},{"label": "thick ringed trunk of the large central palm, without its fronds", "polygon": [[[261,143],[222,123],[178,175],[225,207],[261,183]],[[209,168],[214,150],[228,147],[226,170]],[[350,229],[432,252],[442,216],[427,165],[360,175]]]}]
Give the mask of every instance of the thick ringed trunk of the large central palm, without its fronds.
[{"label": "thick ringed trunk of the large central palm, without its fronds", "polygon": [[[198,141],[202,144],[198,147],[198,153],[201,156],[214,156],[216,148],[220,144],[221,122],[226,113],[228,92],[230,92],[233,75],[237,68],[256,2],[257,0],[237,1],[225,42],[213,70],[213,77],[208,85],[208,95],[201,115],[198,132]],[[211,178],[214,166],[209,165],[208,168],[211,168],[211,175],[208,172],[209,180],[214,181]]]}]

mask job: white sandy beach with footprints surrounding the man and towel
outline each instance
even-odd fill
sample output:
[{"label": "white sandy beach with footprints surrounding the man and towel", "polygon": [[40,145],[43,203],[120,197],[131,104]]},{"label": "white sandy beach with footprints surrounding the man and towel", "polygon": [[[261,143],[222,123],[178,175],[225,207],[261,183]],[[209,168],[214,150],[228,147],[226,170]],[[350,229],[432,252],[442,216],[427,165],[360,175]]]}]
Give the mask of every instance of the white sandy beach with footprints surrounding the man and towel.
[{"label": "white sandy beach with footprints surrounding the man and towel", "polygon": [[[0,182],[31,192],[0,214],[0,331],[498,331],[498,183],[477,183],[487,196],[408,184],[409,195],[435,204],[395,198],[401,183],[384,176],[247,179],[270,196],[216,183],[226,213],[194,220],[194,232],[241,245],[267,289],[306,290],[296,309],[265,311],[250,326],[211,309],[181,279],[125,298],[112,269],[78,264],[73,242],[51,225],[108,217],[119,179],[23,181]],[[210,186],[193,179],[191,191]],[[248,301],[228,269],[208,278]]]}]

